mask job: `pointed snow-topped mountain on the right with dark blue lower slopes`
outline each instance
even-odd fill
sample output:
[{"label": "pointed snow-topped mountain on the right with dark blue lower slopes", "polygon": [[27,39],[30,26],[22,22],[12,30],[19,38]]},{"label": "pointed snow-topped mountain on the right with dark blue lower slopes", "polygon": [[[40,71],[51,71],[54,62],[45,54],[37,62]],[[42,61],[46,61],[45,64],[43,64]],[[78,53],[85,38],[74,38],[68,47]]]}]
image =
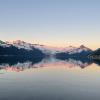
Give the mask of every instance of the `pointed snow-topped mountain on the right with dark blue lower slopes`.
[{"label": "pointed snow-topped mountain on the right with dark blue lower slopes", "polygon": [[67,58],[86,58],[89,54],[92,53],[92,50],[81,45],[80,47],[70,47],[70,49],[56,53],[56,58],[58,59],[67,59]]}]

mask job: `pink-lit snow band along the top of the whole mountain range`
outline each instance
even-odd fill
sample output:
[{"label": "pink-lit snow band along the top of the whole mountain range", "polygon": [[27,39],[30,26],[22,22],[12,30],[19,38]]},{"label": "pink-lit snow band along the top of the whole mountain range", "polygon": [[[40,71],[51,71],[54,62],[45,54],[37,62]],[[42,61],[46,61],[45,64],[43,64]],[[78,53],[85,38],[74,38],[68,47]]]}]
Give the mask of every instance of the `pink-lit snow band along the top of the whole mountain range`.
[{"label": "pink-lit snow band along the top of the whole mountain range", "polygon": [[25,49],[25,50],[33,50],[35,48],[41,50],[46,55],[55,55],[57,53],[62,53],[62,52],[70,55],[76,53],[82,53],[82,52],[92,52],[91,49],[85,47],[84,45],[81,45],[80,47],[69,46],[66,48],[56,48],[56,47],[50,47],[50,46],[45,46],[40,44],[31,44],[21,40],[17,40],[13,42],[0,41],[0,46],[3,47],[14,46],[18,49]]}]

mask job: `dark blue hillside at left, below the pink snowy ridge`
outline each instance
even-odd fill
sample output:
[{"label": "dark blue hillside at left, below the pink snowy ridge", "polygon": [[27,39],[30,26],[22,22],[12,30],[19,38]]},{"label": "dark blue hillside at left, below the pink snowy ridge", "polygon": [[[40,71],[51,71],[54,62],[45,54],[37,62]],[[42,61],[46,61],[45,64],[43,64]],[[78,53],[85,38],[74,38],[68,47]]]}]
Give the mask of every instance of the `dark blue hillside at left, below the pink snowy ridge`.
[{"label": "dark blue hillside at left, below the pink snowy ridge", "polygon": [[3,41],[0,41],[0,56],[19,56],[25,58],[37,58],[44,57],[45,54],[34,47],[31,49],[18,48],[11,44],[7,44]]}]

